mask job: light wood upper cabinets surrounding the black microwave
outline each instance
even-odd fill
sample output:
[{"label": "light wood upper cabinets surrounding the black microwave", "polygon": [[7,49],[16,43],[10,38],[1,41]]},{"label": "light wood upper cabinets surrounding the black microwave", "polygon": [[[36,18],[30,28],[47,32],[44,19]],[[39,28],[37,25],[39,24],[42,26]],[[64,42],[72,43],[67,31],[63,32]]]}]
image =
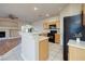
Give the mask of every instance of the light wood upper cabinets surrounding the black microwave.
[{"label": "light wood upper cabinets surrounding the black microwave", "polygon": [[49,25],[56,25],[57,28],[60,28],[60,22],[59,21],[44,21],[43,28],[49,29]]}]

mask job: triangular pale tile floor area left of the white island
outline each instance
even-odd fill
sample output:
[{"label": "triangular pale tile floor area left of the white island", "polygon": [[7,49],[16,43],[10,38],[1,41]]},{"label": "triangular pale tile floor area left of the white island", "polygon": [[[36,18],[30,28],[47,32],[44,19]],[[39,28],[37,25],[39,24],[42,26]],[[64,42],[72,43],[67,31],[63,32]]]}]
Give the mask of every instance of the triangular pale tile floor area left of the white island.
[{"label": "triangular pale tile floor area left of the white island", "polygon": [[20,56],[20,43],[4,55],[0,56],[0,61],[23,61]]}]

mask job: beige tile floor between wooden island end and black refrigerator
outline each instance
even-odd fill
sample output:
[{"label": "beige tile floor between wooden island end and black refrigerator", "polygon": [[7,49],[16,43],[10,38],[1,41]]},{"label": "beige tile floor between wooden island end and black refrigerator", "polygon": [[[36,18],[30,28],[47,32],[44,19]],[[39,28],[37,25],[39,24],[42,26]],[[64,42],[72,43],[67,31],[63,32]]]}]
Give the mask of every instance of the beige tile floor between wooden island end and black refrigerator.
[{"label": "beige tile floor between wooden island end and black refrigerator", "polygon": [[62,61],[62,46],[49,42],[48,61]]}]

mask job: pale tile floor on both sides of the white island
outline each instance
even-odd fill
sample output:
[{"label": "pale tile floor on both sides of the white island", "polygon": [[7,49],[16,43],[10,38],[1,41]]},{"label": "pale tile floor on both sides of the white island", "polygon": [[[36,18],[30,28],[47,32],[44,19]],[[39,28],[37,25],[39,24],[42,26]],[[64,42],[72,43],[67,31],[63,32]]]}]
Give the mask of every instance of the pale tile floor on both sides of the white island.
[{"label": "pale tile floor on both sides of the white island", "polygon": [[[0,61],[23,61],[20,44],[0,56]],[[60,44],[49,42],[49,56],[47,61],[62,61],[62,48]]]}]

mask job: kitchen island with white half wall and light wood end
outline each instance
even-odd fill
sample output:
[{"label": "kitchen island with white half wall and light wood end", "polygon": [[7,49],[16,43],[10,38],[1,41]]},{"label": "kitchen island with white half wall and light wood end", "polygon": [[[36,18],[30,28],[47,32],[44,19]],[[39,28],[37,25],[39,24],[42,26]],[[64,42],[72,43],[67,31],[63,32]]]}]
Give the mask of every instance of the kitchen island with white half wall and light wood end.
[{"label": "kitchen island with white half wall and light wood end", "polygon": [[22,57],[25,61],[46,61],[48,59],[48,37],[37,33],[23,33]]}]

